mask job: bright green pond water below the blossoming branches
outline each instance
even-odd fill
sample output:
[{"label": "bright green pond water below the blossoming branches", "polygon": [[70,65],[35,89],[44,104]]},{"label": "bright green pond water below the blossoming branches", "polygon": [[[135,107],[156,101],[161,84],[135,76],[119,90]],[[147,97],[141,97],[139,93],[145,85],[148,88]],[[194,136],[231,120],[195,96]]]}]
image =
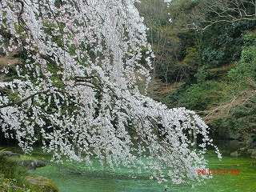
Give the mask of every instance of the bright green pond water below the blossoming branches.
[{"label": "bright green pond water below the blossoming branches", "polygon": [[[167,191],[256,191],[256,159],[232,158],[230,152],[221,152],[221,161],[213,151],[206,154],[210,170],[216,170],[213,178],[200,184],[195,183],[194,188],[188,184],[171,185]],[[34,156],[46,158],[39,153]],[[239,170],[239,174],[222,175],[222,170]],[[148,173],[131,178],[125,167],[110,170],[103,169],[97,163],[94,167],[87,167],[78,162],[65,162],[63,165],[48,162],[47,166],[38,168],[32,174],[50,178],[60,192],[162,192],[166,185],[150,180]]]}]

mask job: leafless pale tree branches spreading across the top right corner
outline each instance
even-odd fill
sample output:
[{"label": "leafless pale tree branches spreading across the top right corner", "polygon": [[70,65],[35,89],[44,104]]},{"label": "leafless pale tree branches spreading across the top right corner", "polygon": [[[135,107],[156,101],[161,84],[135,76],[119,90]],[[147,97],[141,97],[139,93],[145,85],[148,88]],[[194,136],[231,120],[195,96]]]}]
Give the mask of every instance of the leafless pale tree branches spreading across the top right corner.
[{"label": "leafless pale tree branches spreading across the top right corner", "polygon": [[[171,6],[186,4],[186,14],[178,14],[172,19],[182,30],[206,30],[218,22],[238,22],[256,20],[255,0],[178,0]],[[174,9],[174,8],[173,8]],[[183,6],[184,9],[184,6]],[[183,22],[180,22],[183,21]],[[177,24],[179,22],[179,24]]]}]

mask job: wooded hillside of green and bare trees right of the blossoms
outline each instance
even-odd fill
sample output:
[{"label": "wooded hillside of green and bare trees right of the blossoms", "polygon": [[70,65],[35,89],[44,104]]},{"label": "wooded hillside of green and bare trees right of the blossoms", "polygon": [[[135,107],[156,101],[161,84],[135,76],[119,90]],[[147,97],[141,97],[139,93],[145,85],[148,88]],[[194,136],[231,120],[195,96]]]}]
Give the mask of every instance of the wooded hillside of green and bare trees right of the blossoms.
[{"label": "wooded hillside of green and bare trees right of the blossoms", "polygon": [[[143,0],[153,47],[151,97],[196,110],[217,138],[256,138],[254,1]],[[169,20],[169,22],[168,22]]]}]

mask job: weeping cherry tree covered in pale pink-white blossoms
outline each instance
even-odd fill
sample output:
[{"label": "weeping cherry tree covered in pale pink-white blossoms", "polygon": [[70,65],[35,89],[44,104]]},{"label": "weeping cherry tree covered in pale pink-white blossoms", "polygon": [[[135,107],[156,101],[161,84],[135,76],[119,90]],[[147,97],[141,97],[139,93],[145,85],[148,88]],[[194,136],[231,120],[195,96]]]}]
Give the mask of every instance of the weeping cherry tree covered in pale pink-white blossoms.
[{"label": "weeping cherry tree covered in pale pink-white blossoms", "polygon": [[[0,83],[2,132],[25,153],[42,142],[54,161],[94,157],[159,181],[202,180],[208,127],[146,97],[154,55],[135,2],[0,0],[1,50],[23,55],[15,78]],[[197,149],[190,133],[202,138]]]}]

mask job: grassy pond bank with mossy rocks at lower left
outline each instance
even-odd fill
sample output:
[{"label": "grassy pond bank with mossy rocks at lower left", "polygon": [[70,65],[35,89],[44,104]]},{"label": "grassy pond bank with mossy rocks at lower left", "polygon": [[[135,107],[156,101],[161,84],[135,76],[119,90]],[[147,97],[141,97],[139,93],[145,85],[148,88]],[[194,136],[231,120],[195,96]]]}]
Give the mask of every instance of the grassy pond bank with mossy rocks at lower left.
[{"label": "grassy pond bank with mossy rocks at lower left", "polygon": [[42,166],[46,165],[38,159],[0,150],[0,191],[58,192],[58,187],[49,178],[30,175],[30,170]]}]

